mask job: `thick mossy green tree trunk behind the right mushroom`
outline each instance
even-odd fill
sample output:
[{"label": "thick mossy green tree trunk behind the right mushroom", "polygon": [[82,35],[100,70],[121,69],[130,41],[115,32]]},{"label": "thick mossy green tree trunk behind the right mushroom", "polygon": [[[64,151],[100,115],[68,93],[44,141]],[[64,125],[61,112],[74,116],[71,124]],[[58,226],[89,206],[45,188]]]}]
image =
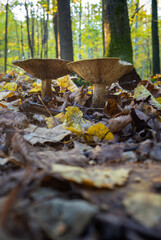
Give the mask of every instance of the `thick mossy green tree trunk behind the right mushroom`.
[{"label": "thick mossy green tree trunk behind the right mushroom", "polygon": [[126,0],[103,0],[103,36],[106,57],[133,61]]}]

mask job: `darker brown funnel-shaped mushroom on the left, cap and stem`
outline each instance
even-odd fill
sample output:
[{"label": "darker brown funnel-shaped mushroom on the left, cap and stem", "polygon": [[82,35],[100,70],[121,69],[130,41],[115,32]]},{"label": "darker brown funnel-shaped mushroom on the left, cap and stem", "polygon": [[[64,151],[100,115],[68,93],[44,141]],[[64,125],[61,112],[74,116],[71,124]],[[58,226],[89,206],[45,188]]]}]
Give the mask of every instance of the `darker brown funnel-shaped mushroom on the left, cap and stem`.
[{"label": "darker brown funnel-shaped mushroom on the left, cap and stem", "polygon": [[24,61],[13,61],[12,63],[32,76],[42,80],[41,96],[51,97],[51,80],[70,73],[67,63],[70,61],[62,59],[28,59]]}]

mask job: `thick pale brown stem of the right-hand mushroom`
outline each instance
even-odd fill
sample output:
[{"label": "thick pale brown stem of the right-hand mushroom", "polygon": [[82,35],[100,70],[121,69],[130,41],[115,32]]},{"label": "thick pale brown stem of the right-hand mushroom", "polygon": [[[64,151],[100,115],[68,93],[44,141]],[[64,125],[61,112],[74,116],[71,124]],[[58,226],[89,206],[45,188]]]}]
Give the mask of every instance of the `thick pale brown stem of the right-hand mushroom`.
[{"label": "thick pale brown stem of the right-hand mushroom", "polygon": [[93,84],[93,97],[92,106],[93,107],[104,107],[105,104],[105,84]]}]

